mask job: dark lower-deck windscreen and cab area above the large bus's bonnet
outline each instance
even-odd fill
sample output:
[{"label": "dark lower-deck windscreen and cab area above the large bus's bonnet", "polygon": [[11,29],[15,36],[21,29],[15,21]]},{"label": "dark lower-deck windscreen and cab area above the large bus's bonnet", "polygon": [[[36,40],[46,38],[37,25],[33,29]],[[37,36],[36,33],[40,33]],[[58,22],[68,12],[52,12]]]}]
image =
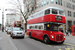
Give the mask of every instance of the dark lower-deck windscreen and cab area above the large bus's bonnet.
[{"label": "dark lower-deck windscreen and cab area above the large bus's bonnet", "polygon": [[[62,23],[55,23],[55,22],[51,22],[51,23],[45,23],[44,24],[44,30],[47,31],[63,31],[63,28],[61,27]],[[61,29],[61,30],[60,30]]]}]

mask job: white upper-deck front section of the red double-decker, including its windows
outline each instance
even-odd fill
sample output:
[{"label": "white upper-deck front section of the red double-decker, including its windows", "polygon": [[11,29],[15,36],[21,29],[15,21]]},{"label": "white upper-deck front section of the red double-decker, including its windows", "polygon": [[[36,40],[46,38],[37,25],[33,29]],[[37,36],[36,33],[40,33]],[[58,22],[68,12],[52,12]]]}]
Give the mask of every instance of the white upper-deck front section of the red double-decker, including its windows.
[{"label": "white upper-deck front section of the red double-decker, including its windows", "polygon": [[48,15],[48,14],[56,14],[56,15],[65,16],[64,10],[57,8],[57,7],[49,7],[45,9],[44,15]]}]

